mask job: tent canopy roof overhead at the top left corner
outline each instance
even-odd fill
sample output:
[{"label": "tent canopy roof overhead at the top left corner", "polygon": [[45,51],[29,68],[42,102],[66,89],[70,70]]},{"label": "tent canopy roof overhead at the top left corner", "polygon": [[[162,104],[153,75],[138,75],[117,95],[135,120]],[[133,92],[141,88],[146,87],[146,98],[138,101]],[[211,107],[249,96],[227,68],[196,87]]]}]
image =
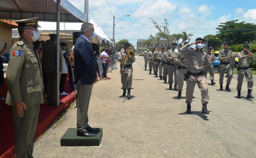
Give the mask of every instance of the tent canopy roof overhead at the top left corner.
[{"label": "tent canopy roof overhead at the top left corner", "polygon": [[[40,21],[57,21],[56,0],[1,0],[0,19],[29,19],[39,17]],[[60,22],[86,22],[87,15],[68,0],[61,1]]]}]

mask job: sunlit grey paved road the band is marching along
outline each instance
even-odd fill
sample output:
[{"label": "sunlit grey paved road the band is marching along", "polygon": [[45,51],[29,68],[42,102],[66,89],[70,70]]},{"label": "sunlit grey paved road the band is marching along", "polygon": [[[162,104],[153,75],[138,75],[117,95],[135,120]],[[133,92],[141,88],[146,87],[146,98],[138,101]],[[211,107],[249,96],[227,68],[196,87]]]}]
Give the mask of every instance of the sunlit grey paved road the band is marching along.
[{"label": "sunlit grey paved road the band is marching along", "polygon": [[[176,98],[176,91],[168,90],[168,84],[148,73],[144,59],[137,57],[131,100],[121,97],[119,67],[108,73],[111,80],[94,85],[89,124],[103,128],[101,146],[60,146],[66,130],[76,127],[73,106],[59,125],[37,140],[34,157],[256,157],[256,106],[254,100],[245,98],[245,79],[241,91],[245,97],[240,99],[235,97],[236,75],[230,84],[231,92],[219,91],[219,84],[209,85],[209,115],[201,114],[201,94],[196,86],[192,114],[186,114],[185,91],[182,98]],[[218,80],[219,75],[215,78]],[[207,80],[210,83],[209,75]],[[252,94],[256,97],[255,92]]]}]

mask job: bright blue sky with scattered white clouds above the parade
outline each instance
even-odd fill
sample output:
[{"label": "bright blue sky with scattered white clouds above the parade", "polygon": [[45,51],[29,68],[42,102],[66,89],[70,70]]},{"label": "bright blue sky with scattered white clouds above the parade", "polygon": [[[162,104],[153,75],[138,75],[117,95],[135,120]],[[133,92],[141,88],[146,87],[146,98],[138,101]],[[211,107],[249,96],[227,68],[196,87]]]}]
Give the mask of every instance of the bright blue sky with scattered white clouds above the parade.
[{"label": "bright blue sky with scattered white clouds above the parade", "polygon": [[[69,2],[84,12],[84,0]],[[158,23],[167,19],[172,34],[183,31],[192,33],[191,41],[208,34],[215,35],[215,28],[220,22],[239,19],[239,22],[256,23],[255,0],[108,0],[108,3],[107,0],[89,0],[89,21],[93,18],[110,39],[113,34],[113,16],[108,4],[116,18],[130,14],[116,24],[115,40],[127,39],[134,46],[137,39],[148,39],[150,34],[155,35],[157,32],[148,18]],[[80,29],[80,26],[73,24],[74,29]]]}]

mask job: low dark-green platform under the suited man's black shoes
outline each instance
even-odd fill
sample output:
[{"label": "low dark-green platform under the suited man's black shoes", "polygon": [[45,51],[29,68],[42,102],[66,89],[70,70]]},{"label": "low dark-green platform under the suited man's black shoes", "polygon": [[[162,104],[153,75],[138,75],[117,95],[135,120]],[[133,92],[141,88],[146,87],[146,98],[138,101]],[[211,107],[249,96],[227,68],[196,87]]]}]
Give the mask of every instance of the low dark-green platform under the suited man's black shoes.
[{"label": "low dark-green platform under the suited man's black shoes", "polygon": [[61,146],[100,146],[103,134],[102,128],[96,128],[98,132],[93,137],[76,136],[77,128],[69,128],[60,139]]}]

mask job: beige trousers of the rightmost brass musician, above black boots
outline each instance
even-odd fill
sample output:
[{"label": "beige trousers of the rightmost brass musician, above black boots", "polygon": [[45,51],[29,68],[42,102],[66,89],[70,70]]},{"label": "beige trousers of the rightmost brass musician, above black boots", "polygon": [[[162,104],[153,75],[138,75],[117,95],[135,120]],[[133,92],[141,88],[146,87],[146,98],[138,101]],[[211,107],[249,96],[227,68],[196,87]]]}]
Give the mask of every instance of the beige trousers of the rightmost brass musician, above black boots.
[{"label": "beige trousers of the rightmost brass musician, above black boots", "polygon": [[252,75],[251,75],[251,70],[247,69],[247,70],[242,70],[240,69],[239,71],[237,71],[238,77],[237,77],[237,86],[236,89],[237,90],[241,90],[242,89],[242,84],[243,84],[243,80],[244,80],[244,76],[247,80],[247,88],[248,89],[252,89],[253,87],[253,80],[252,80]]}]

